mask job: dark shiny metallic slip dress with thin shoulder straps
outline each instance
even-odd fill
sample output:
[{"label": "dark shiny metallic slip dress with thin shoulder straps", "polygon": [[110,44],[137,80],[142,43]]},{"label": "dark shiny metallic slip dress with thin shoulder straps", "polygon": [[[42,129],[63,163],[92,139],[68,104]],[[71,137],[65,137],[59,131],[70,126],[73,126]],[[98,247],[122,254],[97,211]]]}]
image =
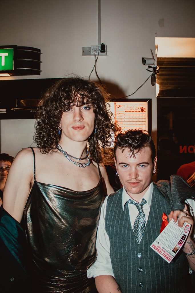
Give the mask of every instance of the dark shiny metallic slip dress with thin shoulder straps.
[{"label": "dark shiny metallic slip dress with thin shoulder straps", "polygon": [[101,173],[98,185],[83,192],[37,182],[34,155],[34,184],[24,221],[36,292],[97,292],[86,272],[96,260],[102,198]]}]

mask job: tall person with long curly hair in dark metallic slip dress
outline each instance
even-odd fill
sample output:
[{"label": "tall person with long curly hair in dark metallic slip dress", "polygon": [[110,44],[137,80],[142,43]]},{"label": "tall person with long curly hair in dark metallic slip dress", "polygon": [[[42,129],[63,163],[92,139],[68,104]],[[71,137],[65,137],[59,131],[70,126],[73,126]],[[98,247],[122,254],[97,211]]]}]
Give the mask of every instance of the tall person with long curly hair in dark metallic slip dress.
[{"label": "tall person with long curly hair in dark metallic slip dress", "polygon": [[92,81],[58,80],[36,113],[37,148],[20,151],[11,166],[3,207],[24,219],[34,292],[97,292],[86,272],[96,260],[102,199],[113,192],[105,147],[119,130],[107,101]]}]

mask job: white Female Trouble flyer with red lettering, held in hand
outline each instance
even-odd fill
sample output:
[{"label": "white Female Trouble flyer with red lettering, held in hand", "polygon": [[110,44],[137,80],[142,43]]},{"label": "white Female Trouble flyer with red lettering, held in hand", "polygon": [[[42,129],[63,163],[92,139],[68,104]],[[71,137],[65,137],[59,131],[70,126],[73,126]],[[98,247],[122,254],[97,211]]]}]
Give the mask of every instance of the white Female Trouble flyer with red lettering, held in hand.
[{"label": "white Female Trouble flyer with red lettering, held in hand", "polygon": [[183,227],[178,227],[178,221],[174,222],[172,219],[150,247],[170,263],[182,248],[190,227],[191,225],[186,222]]}]

